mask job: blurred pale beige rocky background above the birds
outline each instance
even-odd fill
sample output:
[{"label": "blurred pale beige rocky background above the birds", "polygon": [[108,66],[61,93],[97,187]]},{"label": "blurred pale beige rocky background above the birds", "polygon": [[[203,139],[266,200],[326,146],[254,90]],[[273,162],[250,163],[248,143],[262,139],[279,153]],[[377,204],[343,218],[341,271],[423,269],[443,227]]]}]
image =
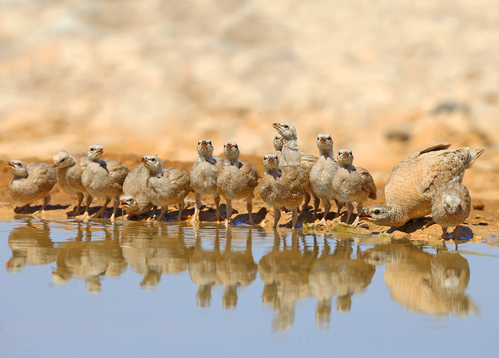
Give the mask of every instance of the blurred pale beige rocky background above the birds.
[{"label": "blurred pale beige rocky background above the birds", "polygon": [[0,0],[0,43],[1,158],[499,147],[498,0]]}]

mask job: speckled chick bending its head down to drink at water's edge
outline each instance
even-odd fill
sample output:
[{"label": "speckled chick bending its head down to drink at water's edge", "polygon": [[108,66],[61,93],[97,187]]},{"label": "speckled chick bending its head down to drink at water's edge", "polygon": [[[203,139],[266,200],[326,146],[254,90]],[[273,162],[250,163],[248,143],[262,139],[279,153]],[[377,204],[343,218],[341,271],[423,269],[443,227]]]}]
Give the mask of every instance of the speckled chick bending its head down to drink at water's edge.
[{"label": "speckled chick bending its head down to drink at water's edge", "polygon": [[152,208],[153,205],[145,194],[149,176],[149,170],[142,163],[126,175],[123,181],[123,195],[120,196],[119,203],[128,215],[144,214]]}]

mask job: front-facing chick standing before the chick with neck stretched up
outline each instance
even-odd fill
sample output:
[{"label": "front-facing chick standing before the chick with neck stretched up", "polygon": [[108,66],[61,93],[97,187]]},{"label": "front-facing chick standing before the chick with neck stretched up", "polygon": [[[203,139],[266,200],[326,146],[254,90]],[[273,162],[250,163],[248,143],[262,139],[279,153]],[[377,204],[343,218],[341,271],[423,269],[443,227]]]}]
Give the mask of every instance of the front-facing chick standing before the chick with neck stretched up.
[{"label": "front-facing chick standing before the chick with neck stretched up", "polygon": [[274,228],[281,218],[281,206],[292,212],[292,227],[296,227],[298,205],[307,191],[308,173],[302,164],[279,166],[276,153],[267,153],[263,157],[265,176],[258,185],[262,199],[274,208]]}]

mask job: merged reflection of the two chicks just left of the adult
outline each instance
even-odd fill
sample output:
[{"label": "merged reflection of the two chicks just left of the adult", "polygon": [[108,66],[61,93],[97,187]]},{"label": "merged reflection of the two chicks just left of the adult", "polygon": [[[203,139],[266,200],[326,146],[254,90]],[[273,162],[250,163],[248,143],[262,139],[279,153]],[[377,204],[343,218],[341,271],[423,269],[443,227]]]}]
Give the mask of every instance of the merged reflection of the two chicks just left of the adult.
[{"label": "merged reflection of the two chicks just left of the adult", "polygon": [[331,317],[331,302],[336,298],[336,309],[350,311],[352,295],[362,293],[371,283],[375,266],[363,259],[363,253],[357,245],[357,257],[352,258],[351,239],[338,239],[334,252],[324,239],[321,256],[312,263],[309,280],[312,293],[317,297],[315,310],[316,327],[325,329]]}]

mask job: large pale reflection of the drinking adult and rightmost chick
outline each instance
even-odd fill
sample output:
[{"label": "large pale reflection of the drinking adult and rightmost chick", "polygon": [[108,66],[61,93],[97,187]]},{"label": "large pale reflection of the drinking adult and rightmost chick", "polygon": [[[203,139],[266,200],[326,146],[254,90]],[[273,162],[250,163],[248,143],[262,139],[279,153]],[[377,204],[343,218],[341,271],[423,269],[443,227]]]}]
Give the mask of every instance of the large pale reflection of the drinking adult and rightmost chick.
[{"label": "large pale reflection of the drinking adult and rightmost chick", "polygon": [[377,245],[366,250],[373,264],[385,263],[385,282],[392,300],[412,312],[436,316],[477,314],[478,308],[465,294],[470,281],[468,260],[444,246],[432,255],[413,244]]}]

